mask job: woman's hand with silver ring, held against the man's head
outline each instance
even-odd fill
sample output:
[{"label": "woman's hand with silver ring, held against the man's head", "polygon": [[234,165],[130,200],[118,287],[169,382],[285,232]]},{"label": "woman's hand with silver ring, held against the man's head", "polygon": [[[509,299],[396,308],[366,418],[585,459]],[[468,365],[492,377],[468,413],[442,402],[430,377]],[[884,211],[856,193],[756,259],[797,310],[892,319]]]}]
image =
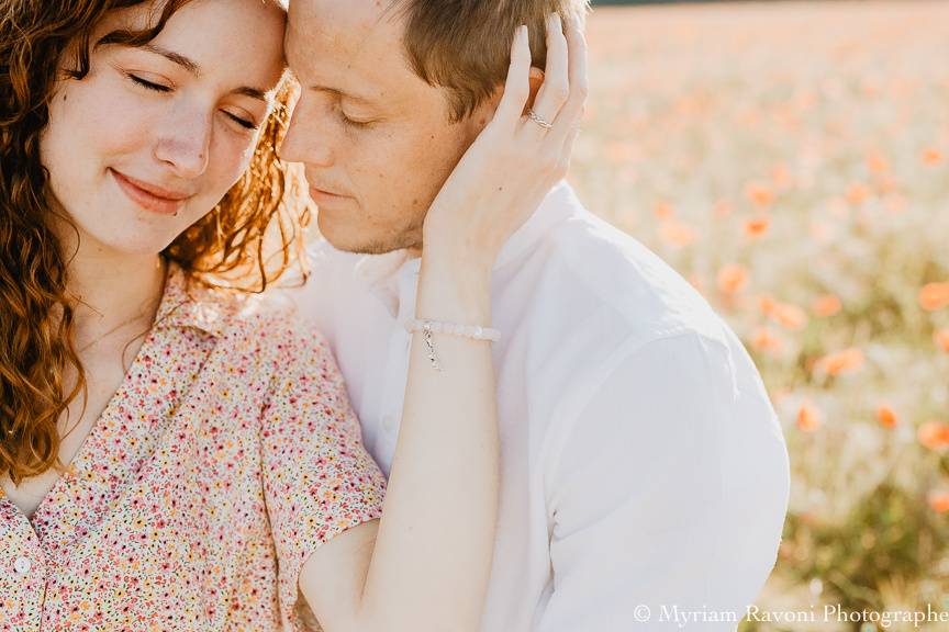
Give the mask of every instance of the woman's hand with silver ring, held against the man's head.
[{"label": "woman's hand with silver ring, held against the man's head", "polygon": [[[456,262],[457,270],[490,274],[511,235],[567,174],[587,100],[587,44],[576,23],[547,20],[547,68],[533,111],[552,124],[523,115],[531,94],[531,47],[521,26],[494,117],[443,185],[423,229],[423,259]],[[446,261],[447,260],[447,261]]]}]

